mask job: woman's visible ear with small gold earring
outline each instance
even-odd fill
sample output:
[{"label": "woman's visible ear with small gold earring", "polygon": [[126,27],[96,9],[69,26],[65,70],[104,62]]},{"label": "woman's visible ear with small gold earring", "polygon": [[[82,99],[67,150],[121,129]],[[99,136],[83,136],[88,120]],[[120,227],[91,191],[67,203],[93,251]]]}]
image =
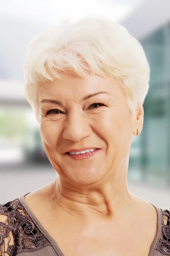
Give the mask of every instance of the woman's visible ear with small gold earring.
[{"label": "woman's visible ear with small gold earring", "polygon": [[144,109],[142,103],[138,103],[138,107],[136,110],[135,115],[135,123],[134,123],[134,131],[133,134],[137,136],[137,130],[139,128],[139,133],[141,133],[143,128],[143,121],[144,121]]}]

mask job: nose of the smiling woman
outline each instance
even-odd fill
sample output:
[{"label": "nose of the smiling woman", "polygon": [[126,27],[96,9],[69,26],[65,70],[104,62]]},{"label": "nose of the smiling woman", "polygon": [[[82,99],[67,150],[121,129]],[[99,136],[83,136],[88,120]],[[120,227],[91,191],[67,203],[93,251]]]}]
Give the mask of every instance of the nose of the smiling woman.
[{"label": "nose of the smiling woman", "polygon": [[69,113],[67,123],[63,131],[63,138],[78,142],[92,134],[87,116],[79,111]]}]

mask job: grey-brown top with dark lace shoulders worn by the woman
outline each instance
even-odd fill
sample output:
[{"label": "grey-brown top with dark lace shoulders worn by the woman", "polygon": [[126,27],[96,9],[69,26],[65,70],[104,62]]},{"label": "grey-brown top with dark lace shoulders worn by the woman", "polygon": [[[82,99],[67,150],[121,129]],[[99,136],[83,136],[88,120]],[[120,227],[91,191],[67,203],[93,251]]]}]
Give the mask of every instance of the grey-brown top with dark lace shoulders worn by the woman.
[{"label": "grey-brown top with dark lace shoulders worn by the woman", "polygon": [[[0,204],[0,215],[6,215],[6,220],[0,222],[0,256],[5,256],[5,252],[9,256],[28,256],[28,252],[31,256],[64,256],[26,204],[26,195]],[[153,207],[157,212],[157,231],[148,256],[170,255],[170,212],[155,205]],[[13,244],[9,242],[10,236],[14,237]]]}]

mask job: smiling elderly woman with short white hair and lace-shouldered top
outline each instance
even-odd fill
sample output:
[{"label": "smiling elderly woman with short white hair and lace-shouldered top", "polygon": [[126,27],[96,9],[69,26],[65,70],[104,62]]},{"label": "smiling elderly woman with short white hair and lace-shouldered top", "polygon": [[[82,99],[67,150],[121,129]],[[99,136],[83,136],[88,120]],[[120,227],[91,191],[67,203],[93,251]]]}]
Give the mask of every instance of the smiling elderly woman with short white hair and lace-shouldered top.
[{"label": "smiling elderly woman with short white hair and lace-shouldered top", "polygon": [[105,17],[67,21],[31,41],[24,70],[57,177],[0,205],[0,255],[170,255],[170,212],[127,188],[150,76],[139,42]]}]

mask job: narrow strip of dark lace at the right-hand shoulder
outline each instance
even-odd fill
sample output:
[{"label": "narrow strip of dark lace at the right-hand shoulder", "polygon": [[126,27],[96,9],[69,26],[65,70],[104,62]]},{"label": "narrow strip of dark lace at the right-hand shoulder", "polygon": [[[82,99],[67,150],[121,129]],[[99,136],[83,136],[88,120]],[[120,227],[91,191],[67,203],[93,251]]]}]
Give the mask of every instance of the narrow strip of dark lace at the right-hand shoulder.
[{"label": "narrow strip of dark lace at the right-hand shoulder", "polygon": [[162,210],[162,233],[156,250],[159,250],[162,254],[170,255],[170,212]]}]

